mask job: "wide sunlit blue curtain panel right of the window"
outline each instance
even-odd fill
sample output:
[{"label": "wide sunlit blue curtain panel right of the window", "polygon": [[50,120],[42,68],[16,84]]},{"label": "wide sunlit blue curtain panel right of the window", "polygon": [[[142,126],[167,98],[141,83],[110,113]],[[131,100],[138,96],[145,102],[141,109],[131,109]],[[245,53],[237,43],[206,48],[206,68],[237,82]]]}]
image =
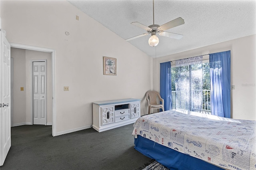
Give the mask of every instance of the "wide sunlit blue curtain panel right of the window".
[{"label": "wide sunlit blue curtain panel right of the window", "polygon": [[210,54],[212,115],[230,118],[230,51]]}]

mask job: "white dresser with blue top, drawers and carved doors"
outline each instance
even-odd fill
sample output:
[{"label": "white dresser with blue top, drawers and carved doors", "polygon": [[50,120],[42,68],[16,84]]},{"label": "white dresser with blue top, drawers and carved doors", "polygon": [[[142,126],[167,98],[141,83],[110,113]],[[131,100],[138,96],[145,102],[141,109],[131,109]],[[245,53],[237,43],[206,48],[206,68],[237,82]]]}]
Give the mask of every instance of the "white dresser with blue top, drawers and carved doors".
[{"label": "white dresser with blue top, drawers and carved doors", "polygon": [[98,132],[134,123],[140,117],[140,99],[92,103],[93,125]]}]

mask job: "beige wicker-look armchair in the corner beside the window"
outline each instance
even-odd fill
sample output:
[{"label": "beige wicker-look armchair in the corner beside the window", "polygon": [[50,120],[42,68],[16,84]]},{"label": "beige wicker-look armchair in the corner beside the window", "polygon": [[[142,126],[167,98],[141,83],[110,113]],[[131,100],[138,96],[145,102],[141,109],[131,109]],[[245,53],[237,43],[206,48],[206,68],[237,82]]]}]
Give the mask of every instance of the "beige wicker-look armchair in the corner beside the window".
[{"label": "beige wicker-look armchair in the corner beside the window", "polygon": [[[157,91],[148,91],[146,93],[146,99],[148,101],[148,115],[150,114],[151,108],[154,109],[163,109],[164,111],[164,99],[160,96],[160,94]],[[158,104],[157,101],[161,101],[162,104]]]}]

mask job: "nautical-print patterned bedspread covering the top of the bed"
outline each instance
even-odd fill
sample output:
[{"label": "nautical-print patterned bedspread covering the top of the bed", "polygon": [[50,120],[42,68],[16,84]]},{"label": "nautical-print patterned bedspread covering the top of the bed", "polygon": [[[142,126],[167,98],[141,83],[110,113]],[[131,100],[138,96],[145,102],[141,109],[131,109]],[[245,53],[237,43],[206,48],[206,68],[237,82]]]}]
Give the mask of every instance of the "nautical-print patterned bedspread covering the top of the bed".
[{"label": "nautical-print patterned bedspread covering the top of the bed", "polygon": [[256,121],[171,110],[140,117],[133,135],[230,170],[256,170]]}]

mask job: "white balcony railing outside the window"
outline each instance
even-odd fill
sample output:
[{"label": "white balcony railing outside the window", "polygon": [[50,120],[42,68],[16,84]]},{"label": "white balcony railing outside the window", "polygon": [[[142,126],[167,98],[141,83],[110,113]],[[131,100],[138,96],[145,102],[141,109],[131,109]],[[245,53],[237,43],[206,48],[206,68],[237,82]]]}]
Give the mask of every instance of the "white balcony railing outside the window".
[{"label": "white balcony railing outside the window", "polygon": [[172,108],[210,114],[210,90],[172,91]]}]

